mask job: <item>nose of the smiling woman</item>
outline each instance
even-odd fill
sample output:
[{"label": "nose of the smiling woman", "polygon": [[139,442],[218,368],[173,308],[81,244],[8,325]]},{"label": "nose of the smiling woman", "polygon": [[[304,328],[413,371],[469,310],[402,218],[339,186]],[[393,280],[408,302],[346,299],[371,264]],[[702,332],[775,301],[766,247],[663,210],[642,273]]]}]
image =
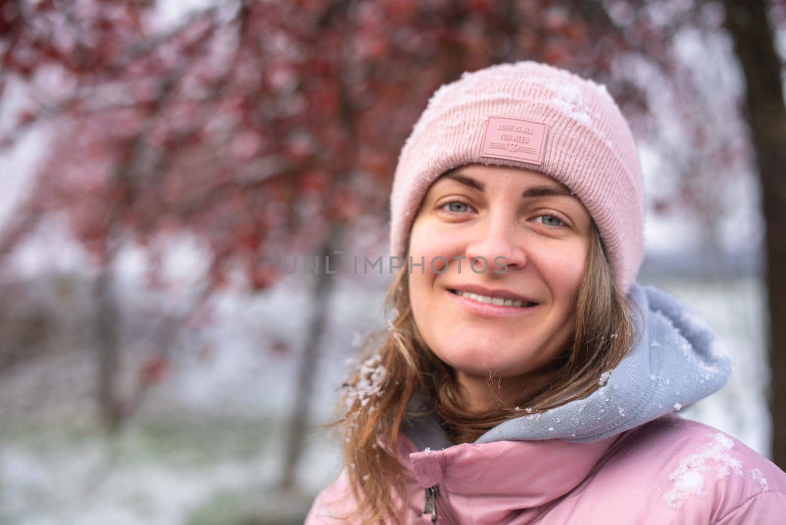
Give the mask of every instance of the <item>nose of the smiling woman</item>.
[{"label": "nose of the smiling woman", "polygon": [[[523,237],[515,219],[502,212],[491,213],[478,226],[476,237],[468,244],[466,254],[467,262],[476,273],[483,273],[485,268],[486,272],[502,274],[527,264]],[[481,257],[487,262],[479,259]]]}]

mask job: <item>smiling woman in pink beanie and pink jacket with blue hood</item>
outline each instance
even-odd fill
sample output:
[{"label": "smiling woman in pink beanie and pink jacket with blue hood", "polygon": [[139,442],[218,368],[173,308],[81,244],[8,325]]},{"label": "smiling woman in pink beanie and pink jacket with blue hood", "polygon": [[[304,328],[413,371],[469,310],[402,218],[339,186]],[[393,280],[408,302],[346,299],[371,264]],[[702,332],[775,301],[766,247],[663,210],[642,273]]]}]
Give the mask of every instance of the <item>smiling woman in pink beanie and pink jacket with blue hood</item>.
[{"label": "smiling woman in pink beanie and pink jacket with blue hood", "polygon": [[642,191],[603,86],[524,61],[437,90],[395,173],[395,319],[306,523],[782,523],[786,474],[674,414],[729,358],[634,282]]}]

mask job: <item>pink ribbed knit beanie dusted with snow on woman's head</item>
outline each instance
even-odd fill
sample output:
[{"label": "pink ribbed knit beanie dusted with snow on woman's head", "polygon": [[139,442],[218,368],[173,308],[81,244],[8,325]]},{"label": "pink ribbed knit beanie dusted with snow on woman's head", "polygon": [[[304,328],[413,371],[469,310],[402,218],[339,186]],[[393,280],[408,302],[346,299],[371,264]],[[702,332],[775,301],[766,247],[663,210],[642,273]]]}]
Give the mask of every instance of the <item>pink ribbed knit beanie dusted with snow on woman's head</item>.
[{"label": "pink ribbed knit beanie dusted with snow on woman's head", "polygon": [[578,196],[623,293],[643,256],[644,190],[633,134],[605,86],[533,61],[465,72],[436,90],[399,156],[391,255],[403,257],[423,197],[468,163],[547,174]]}]

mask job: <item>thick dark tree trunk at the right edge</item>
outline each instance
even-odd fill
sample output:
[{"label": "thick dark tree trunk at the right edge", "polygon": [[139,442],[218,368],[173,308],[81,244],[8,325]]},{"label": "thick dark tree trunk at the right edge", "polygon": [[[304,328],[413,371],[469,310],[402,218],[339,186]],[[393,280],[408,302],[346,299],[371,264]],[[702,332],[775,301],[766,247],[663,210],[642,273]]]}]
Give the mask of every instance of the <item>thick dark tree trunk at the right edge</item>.
[{"label": "thick dark tree trunk at the right edge", "polygon": [[769,303],[769,362],[773,380],[773,461],[786,469],[786,105],[782,67],[767,18],[766,2],[724,0],[725,28],[734,42],[747,93],[751,128],[766,222],[766,279]]}]

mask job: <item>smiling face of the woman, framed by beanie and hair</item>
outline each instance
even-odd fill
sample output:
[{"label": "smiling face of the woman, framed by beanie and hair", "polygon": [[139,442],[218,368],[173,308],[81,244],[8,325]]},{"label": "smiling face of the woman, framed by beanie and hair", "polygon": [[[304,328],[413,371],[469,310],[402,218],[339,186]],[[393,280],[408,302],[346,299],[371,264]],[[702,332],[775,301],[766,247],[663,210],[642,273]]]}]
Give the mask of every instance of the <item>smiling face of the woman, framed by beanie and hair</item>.
[{"label": "smiling face of the woman, framed by beanie and hair", "polygon": [[[425,262],[410,270],[410,302],[460,383],[523,376],[567,351],[591,225],[577,197],[535,171],[470,164],[432,184],[410,233],[410,257]],[[488,264],[473,270],[476,257]]]}]

